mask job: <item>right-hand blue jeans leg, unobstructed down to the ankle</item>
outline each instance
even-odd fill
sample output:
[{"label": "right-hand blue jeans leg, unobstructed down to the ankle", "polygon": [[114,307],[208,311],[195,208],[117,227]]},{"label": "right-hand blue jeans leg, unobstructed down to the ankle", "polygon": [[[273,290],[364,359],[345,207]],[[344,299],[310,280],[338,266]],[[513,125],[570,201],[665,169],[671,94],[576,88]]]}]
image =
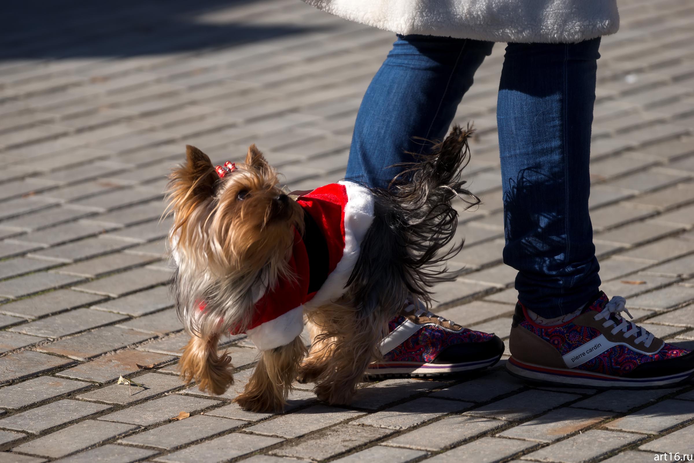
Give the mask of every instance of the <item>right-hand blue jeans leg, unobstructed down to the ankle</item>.
[{"label": "right-hand blue jeans leg, unobstructed down to the ankle", "polygon": [[600,39],[509,44],[497,120],[504,262],[518,299],[541,317],[568,314],[600,286],[588,212]]}]

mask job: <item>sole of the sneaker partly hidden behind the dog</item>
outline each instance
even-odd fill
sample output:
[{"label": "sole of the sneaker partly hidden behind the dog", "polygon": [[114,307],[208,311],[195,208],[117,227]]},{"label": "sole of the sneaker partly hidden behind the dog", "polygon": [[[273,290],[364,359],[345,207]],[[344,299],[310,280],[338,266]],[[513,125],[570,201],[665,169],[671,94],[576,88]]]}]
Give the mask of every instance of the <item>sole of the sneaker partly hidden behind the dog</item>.
[{"label": "sole of the sneaker partly hidden behind the dog", "polygon": [[500,358],[501,355],[497,355],[487,360],[460,363],[380,362],[370,364],[365,374],[368,378],[450,376],[463,371],[489,368]]}]

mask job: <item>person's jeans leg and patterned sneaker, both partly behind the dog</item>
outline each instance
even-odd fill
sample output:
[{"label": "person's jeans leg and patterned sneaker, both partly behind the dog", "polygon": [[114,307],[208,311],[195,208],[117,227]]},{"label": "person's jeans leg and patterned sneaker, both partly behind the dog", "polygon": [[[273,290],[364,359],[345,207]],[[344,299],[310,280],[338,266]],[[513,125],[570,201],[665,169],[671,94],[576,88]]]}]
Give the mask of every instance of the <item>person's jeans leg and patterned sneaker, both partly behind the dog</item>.
[{"label": "person's jeans leg and patterned sneaker, both partly behind the dog", "polygon": [[[399,162],[430,147],[413,137],[440,140],[473,74],[493,43],[446,37],[399,37],[366,91],[355,124],[346,178],[388,187]],[[504,344],[497,336],[468,330],[436,317],[419,301],[408,301],[389,322],[382,359],[366,374],[439,376],[489,367]]]}]

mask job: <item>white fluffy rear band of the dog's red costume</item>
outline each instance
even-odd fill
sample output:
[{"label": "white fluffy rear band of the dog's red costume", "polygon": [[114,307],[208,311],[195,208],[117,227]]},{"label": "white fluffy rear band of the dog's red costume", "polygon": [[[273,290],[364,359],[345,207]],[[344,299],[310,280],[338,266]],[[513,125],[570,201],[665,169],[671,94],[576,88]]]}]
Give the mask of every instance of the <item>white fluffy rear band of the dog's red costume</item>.
[{"label": "white fluffy rear band of the dog's red costume", "polygon": [[335,270],[325,279],[321,289],[306,303],[306,310],[319,308],[325,303],[335,301],[344,294],[347,280],[349,280],[349,276],[359,259],[362,241],[373,221],[373,194],[371,191],[362,185],[346,180],[340,181],[339,184],[344,185],[347,190],[344,221],[345,249]]}]

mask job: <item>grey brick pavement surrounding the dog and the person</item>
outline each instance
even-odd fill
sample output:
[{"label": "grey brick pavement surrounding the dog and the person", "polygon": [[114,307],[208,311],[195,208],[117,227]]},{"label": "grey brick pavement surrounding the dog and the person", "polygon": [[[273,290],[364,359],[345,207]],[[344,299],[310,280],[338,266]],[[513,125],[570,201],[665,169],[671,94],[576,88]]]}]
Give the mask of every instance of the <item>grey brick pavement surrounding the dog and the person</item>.
[{"label": "grey brick pavement surrounding the dog and the person", "polygon": [[[285,414],[184,387],[159,223],[169,167],[251,142],[295,189],[344,175],[360,98],[393,41],[298,0],[15,2],[0,37],[0,461],[647,462],[694,453],[693,386],[534,388],[498,367],[464,380],[364,383],[351,407],[301,387]],[[163,5],[163,3],[161,4]],[[14,8],[14,9],[13,9]],[[591,213],[603,289],[643,326],[694,341],[694,6],[621,3],[598,67]],[[479,129],[443,316],[507,337],[496,89],[503,47],[457,121]],[[460,265],[459,265],[460,267]],[[639,283],[639,284],[636,284]],[[117,385],[119,376],[146,386]],[[191,416],[171,421],[179,412]]]}]

